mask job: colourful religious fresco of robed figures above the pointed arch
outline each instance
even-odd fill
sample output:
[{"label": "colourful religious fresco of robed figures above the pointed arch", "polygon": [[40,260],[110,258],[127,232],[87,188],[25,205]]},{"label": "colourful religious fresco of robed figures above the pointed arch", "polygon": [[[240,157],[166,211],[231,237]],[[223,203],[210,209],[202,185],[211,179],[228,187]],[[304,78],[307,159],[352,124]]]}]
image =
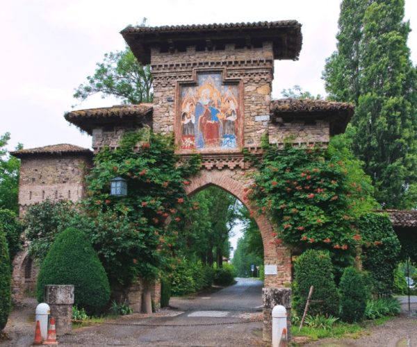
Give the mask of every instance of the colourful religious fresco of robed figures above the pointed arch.
[{"label": "colourful religious fresco of robed figures above the pointed arch", "polygon": [[198,85],[181,90],[181,149],[238,147],[238,86],[220,74],[199,74]]}]

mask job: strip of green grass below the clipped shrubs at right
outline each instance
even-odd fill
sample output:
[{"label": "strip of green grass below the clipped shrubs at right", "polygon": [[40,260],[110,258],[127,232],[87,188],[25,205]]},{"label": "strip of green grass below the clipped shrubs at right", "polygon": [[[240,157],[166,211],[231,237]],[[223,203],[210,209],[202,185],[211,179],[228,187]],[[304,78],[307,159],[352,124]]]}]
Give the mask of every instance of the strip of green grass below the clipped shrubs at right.
[{"label": "strip of green grass below the clipped shrubs at right", "polygon": [[[362,321],[360,323],[336,323],[329,329],[318,329],[303,326],[301,331],[298,331],[300,325],[291,326],[291,335],[309,337],[311,341],[317,341],[318,339],[325,339],[327,337],[344,338],[350,337],[351,339],[359,339],[363,335],[369,335],[369,328],[377,325],[383,325],[391,320],[395,319],[395,316],[383,316],[373,321]],[[302,346],[301,344],[292,344],[291,346]]]}]

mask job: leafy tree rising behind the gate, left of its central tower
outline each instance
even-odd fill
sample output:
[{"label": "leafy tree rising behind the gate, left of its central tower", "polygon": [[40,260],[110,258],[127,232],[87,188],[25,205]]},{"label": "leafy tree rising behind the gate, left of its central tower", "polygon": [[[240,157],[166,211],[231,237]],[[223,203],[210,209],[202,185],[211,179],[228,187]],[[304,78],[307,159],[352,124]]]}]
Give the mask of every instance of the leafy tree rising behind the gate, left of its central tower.
[{"label": "leafy tree rising behind the gate, left of its central tower", "polygon": [[[146,18],[142,24],[146,26]],[[124,51],[104,54],[104,62],[97,63],[94,76],[88,76],[88,83],[79,85],[73,95],[79,101],[88,96],[102,93],[102,98],[115,96],[122,103],[152,103],[152,71],[149,65],[142,66],[133,56],[129,46]]]}]

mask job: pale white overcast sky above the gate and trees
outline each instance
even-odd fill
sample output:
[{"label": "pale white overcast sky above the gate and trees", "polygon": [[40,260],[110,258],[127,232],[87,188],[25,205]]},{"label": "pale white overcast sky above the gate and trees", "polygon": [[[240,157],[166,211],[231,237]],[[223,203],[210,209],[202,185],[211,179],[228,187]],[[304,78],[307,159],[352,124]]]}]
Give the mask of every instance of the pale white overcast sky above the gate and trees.
[{"label": "pale white overcast sky above the gate and trees", "polygon": [[[255,4],[257,6],[255,6]],[[295,19],[302,26],[300,60],[275,62],[274,97],[300,85],[325,94],[321,71],[336,49],[338,0],[199,2],[190,0],[9,0],[0,6],[0,134],[8,146],[70,143],[90,148],[91,139],[65,121],[77,101],[74,88],[94,74],[104,53],[123,50],[120,31],[147,18],[150,26],[259,22]],[[406,0],[405,19],[417,62],[417,1]],[[119,103],[95,96],[76,109]]]}]

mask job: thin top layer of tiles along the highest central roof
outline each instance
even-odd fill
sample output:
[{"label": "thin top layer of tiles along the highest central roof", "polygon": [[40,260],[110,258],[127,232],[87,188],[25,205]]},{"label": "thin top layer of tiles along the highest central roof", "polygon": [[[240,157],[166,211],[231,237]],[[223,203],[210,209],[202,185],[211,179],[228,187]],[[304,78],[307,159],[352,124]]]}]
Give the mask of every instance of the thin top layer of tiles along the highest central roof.
[{"label": "thin top layer of tiles along the highest central roof", "polygon": [[296,26],[301,27],[297,21],[277,21],[277,22],[256,22],[256,23],[228,23],[228,24],[193,24],[193,25],[177,25],[177,26],[127,26],[120,33],[143,33],[143,32],[167,32],[179,33],[185,31],[206,31],[212,29],[235,29],[235,28],[271,28]]}]

